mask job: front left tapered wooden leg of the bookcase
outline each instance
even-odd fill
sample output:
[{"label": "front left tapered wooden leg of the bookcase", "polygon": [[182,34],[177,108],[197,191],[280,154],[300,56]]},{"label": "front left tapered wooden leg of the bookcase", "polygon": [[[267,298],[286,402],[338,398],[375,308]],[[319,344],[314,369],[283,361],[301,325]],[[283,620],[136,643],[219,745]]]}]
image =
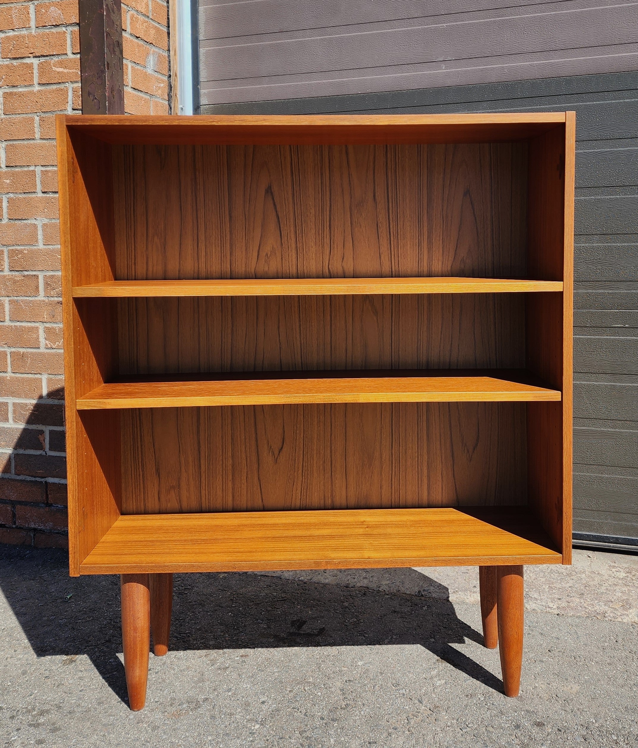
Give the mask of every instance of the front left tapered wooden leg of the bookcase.
[{"label": "front left tapered wooden leg of the bookcase", "polygon": [[129,706],[139,711],[146,702],[150,647],[148,574],[122,574],[122,643]]}]

